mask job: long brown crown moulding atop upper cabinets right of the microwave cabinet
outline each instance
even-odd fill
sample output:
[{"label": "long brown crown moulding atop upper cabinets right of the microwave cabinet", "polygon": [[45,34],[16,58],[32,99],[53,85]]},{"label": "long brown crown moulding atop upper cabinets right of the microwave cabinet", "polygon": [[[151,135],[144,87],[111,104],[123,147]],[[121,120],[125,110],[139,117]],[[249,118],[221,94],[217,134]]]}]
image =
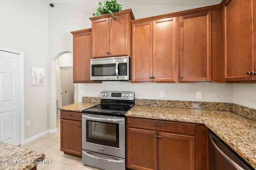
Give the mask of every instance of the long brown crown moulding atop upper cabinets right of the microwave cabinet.
[{"label": "long brown crown moulding atop upper cabinets right of the microwave cabinet", "polygon": [[145,21],[159,20],[159,19],[176,17],[176,16],[183,16],[183,15],[193,14],[193,13],[197,13],[197,12],[218,10],[218,9],[222,8],[223,6],[225,6],[226,4],[228,4],[230,1],[231,0],[222,0],[222,2],[220,2],[220,4],[216,4],[216,5],[205,6],[205,7],[201,7],[201,8],[194,8],[191,10],[179,11],[179,12],[174,12],[174,13],[170,13],[170,14],[164,14],[164,15],[159,15],[159,16],[152,16],[152,17],[148,17],[148,18],[132,20],[132,21],[130,21],[130,24],[140,23],[140,22],[145,22]]}]

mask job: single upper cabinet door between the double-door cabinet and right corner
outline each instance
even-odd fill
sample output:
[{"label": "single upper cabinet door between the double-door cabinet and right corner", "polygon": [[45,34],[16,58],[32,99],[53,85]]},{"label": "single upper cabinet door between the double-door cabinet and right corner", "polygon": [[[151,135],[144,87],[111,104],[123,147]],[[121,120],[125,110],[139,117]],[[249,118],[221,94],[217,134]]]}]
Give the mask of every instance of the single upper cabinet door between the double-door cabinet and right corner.
[{"label": "single upper cabinet door between the double-door cabinet and right corner", "polygon": [[211,81],[211,12],[180,17],[180,81]]}]

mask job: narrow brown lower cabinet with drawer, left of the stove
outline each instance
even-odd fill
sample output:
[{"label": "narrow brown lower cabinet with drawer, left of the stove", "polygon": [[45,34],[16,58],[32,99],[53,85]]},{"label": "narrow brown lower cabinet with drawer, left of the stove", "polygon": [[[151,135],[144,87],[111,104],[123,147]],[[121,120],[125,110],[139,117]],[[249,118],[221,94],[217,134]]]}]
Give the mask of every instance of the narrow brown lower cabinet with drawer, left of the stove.
[{"label": "narrow brown lower cabinet with drawer, left of the stove", "polygon": [[80,112],[60,111],[60,150],[82,156],[82,122]]}]

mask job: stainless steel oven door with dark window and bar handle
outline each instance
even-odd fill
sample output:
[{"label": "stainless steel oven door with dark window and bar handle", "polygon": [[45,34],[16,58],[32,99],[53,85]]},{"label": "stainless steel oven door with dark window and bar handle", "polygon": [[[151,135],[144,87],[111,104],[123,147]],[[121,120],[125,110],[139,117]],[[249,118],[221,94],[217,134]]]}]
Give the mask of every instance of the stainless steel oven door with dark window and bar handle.
[{"label": "stainless steel oven door with dark window and bar handle", "polygon": [[125,119],[82,114],[82,149],[125,158]]}]

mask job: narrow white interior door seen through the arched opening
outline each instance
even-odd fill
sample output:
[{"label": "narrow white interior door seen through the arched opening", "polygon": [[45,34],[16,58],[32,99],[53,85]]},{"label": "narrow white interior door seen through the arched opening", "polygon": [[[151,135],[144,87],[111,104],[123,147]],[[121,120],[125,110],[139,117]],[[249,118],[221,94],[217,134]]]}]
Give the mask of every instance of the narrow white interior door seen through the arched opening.
[{"label": "narrow white interior door seen through the arched opening", "polygon": [[61,69],[61,101],[62,106],[68,105],[68,70]]}]

